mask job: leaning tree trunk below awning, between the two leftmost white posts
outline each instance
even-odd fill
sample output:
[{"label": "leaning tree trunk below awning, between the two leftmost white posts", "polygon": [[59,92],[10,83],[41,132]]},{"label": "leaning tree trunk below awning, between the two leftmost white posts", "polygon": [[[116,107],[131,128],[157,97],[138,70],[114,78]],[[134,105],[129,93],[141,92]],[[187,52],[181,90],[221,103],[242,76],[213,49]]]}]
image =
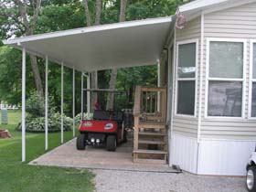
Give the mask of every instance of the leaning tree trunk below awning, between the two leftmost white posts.
[{"label": "leaning tree trunk below awning, between the two leftmost white posts", "polygon": [[44,97],[42,80],[41,80],[38,65],[37,65],[37,57],[34,55],[31,55],[31,54],[29,56],[30,56],[30,61],[31,61],[31,68],[32,68],[33,75],[34,75],[34,80],[36,83],[37,92],[41,97]]}]

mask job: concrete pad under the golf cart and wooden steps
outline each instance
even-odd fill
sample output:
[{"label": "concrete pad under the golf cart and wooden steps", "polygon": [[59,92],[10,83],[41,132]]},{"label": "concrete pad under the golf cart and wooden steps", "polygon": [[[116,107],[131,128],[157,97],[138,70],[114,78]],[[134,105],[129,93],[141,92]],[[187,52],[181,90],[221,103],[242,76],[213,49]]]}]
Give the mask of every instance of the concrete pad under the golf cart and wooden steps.
[{"label": "concrete pad under the golf cart and wooden steps", "polygon": [[62,144],[45,155],[31,161],[29,165],[50,165],[89,169],[109,169],[141,172],[178,173],[168,165],[133,163],[133,141],[117,147],[116,152],[108,152],[103,147],[87,146],[86,150],[76,148],[76,138]]}]

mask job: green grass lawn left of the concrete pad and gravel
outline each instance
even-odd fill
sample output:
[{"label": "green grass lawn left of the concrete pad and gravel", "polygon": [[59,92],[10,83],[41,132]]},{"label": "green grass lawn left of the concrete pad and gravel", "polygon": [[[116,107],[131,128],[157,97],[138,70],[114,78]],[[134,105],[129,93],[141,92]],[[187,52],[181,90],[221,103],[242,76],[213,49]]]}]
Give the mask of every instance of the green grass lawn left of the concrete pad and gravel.
[{"label": "green grass lawn left of the concrete pad and gravel", "polygon": [[[0,115],[1,116],[1,115]],[[93,174],[87,170],[73,168],[27,165],[45,152],[44,133],[27,133],[27,162],[21,163],[21,133],[16,132],[21,112],[8,112],[8,125],[0,129],[10,131],[12,138],[0,139],[0,191],[2,192],[80,192],[93,191]],[[1,122],[1,119],[0,119]],[[72,132],[64,134],[65,141]],[[49,150],[60,144],[60,133],[48,134]]]}]

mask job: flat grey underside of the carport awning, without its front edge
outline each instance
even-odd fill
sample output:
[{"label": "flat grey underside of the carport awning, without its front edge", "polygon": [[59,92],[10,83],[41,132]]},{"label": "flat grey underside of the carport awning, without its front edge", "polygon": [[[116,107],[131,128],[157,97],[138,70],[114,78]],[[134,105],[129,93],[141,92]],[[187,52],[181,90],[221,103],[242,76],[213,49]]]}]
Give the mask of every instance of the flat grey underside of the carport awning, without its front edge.
[{"label": "flat grey underside of the carport awning, without its front edge", "polygon": [[84,71],[152,65],[159,59],[169,27],[170,23],[123,27],[23,44]]}]

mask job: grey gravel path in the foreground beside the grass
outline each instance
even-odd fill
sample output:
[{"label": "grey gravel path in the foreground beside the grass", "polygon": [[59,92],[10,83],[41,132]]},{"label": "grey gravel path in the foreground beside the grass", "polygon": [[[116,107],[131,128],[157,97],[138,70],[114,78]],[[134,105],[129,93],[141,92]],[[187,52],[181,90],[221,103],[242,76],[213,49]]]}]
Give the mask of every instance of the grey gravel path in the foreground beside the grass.
[{"label": "grey gravel path in the foreground beside the grass", "polygon": [[247,192],[245,178],[94,170],[97,192]]}]

